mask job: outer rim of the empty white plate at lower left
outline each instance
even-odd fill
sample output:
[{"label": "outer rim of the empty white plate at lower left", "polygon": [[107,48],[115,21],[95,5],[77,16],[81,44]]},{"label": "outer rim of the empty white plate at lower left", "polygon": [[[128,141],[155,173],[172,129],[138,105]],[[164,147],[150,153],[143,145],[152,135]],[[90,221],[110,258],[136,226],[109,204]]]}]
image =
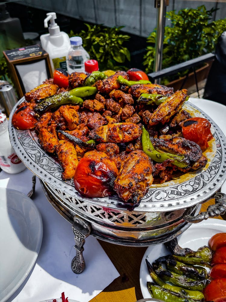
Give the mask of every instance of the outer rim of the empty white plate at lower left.
[{"label": "outer rim of the empty white plate at lower left", "polygon": [[[24,282],[24,280],[27,278],[27,276],[29,275],[31,269],[33,268],[36,259],[38,257],[41,245],[42,245],[42,235],[43,235],[43,225],[42,225],[42,217],[41,214],[38,210],[38,208],[36,207],[36,205],[34,204],[34,202],[32,201],[32,199],[30,199],[27,195],[25,195],[24,193],[14,190],[14,189],[9,189],[9,188],[0,188],[0,192],[6,190],[6,191],[10,191],[12,194],[16,194],[17,197],[21,196],[23,197],[24,200],[26,200],[26,202],[29,204],[30,207],[32,207],[35,210],[35,213],[37,215],[37,219],[36,219],[36,230],[38,230],[39,234],[37,237],[37,242],[36,242],[36,246],[35,246],[35,251],[33,251],[33,257],[31,257],[29,265],[24,268],[24,275],[23,278],[21,278],[20,280],[18,280],[17,282],[15,282],[15,284],[12,282],[12,286],[8,289],[8,291],[6,291],[4,296],[0,297],[0,302],[2,301],[6,301],[9,297],[11,297],[12,294],[14,294],[14,292],[20,287],[20,285]],[[24,216],[25,217],[25,216]],[[26,217],[25,217],[26,219]]]}]

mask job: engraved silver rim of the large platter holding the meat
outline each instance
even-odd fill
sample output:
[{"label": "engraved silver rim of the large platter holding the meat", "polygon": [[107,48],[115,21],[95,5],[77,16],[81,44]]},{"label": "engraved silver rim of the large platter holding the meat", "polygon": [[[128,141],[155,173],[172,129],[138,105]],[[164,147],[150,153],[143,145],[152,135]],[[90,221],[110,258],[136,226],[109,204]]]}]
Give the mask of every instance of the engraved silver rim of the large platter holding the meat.
[{"label": "engraved silver rim of the large platter holding the meat", "polygon": [[[101,207],[127,210],[128,205],[116,194],[108,198],[85,198],[75,190],[73,180],[65,182],[61,179],[63,170],[60,164],[56,158],[50,156],[41,148],[35,131],[17,130],[11,124],[17,105],[24,100],[24,98],[21,98],[11,111],[9,136],[13,149],[27,168],[43,182],[60,190],[67,196],[73,196],[85,203],[88,202]],[[133,211],[164,212],[192,207],[206,201],[221,188],[226,178],[226,138],[217,124],[205,112],[190,102],[186,102],[184,105],[184,109],[187,108],[194,111],[196,116],[207,118],[212,124],[215,143],[207,167],[196,172],[187,173],[186,177],[182,176],[162,185],[152,185],[140,201],[139,206]]]}]

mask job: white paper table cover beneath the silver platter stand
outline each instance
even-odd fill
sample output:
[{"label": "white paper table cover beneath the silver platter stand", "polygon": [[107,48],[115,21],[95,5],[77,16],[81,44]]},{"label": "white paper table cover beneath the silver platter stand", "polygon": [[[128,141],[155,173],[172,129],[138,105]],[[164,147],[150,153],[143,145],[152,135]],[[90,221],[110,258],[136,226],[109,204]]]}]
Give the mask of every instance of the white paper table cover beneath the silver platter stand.
[{"label": "white paper table cover beneath the silver platter stand", "polygon": [[[19,174],[0,173],[0,187],[24,194],[32,188],[31,181],[32,173],[28,169]],[[83,252],[86,268],[81,274],[74,274],[71,261],[75,256],[75,243],[71,224],[47,201],[38,178],[35,191],[33,201],[43,223],[42,246],[33,270],[7,302],[39,302],[59,298],[62,292],[70,299],[87,302],[117,278],[118,271],[97,239],[88,236]]]}]

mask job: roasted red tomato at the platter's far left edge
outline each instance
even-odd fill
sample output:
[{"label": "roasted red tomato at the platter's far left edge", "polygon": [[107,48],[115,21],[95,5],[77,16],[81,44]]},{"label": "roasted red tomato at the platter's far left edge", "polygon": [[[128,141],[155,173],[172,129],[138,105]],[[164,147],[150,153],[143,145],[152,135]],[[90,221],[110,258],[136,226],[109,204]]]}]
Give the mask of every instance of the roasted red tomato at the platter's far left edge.
[{"label": "roasted red tomato at the platter's far left edge", "polygon": [[13,114],[12,124],[16,129],[27,130],[33,129],[37,122],[37,117],[33,109],[29,107],[29,104],[20,106]]}]

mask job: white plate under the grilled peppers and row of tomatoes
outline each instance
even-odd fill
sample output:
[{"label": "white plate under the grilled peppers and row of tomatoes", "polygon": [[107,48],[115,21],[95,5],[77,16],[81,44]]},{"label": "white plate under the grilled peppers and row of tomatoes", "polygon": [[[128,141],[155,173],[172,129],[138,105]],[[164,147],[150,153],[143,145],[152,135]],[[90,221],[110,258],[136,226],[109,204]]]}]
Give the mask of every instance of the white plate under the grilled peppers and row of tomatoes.
[{"label": "white plate under the grilled peppers and row of tomatoes", "polygon": [[[207,245],[209,239],[216,233],[226,232],[226,221],[214,218],[208,218],[197,224],[192,224],[183,234],[177,237],[178,244],[185,248],[188,247],[196,251],[199,247]],[[159,257],[170,254],[164,244],[149,246],[143,256],[140,265],[140,288],[144,298],[151,297],[147,288],[147,282],[153,282],[149,275],[146,261],[151,264]],[[206,268],[208,270],[208,268]]]}]

